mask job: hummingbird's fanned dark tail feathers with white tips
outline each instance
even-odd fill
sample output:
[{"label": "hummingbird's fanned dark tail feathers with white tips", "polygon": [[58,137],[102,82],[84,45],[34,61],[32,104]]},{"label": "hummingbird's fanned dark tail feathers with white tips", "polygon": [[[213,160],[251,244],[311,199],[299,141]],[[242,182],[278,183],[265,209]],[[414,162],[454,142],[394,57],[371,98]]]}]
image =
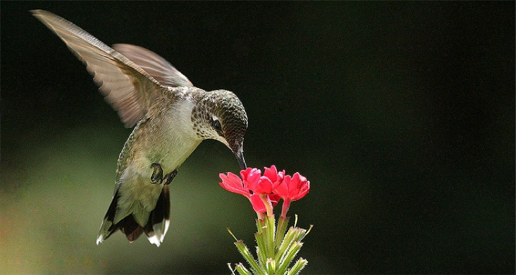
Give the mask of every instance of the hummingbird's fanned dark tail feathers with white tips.
[{"label": "hummingbird's fanned dark tail feathers with white tips", "polygon": [[118,206],[118,190],[113,196],[113,200],[109,205],[107,213],[104,217],[102,225],[100,225],[100,232],[98,232],[97,244],[102,243],[109,238],[111,234],[120,229],[129,242],[133,242],[145,232],[147,239],[156,246],[160,246],[166,231],[169,230],[170,222],[170,192],[169,186],[163,185],[160,197],[156,201],[155,208],[149,212],[149,219],[147,223],[142,226],[133,217],[133,214],[127,215],[118,223],[114,223],[115,214]]}]

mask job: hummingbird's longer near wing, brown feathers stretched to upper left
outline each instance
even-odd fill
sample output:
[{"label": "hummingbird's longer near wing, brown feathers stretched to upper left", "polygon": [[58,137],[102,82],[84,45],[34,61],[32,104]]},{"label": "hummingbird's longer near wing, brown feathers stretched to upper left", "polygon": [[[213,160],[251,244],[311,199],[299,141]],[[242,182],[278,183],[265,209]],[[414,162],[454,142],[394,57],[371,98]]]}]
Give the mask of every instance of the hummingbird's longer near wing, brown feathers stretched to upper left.
[{"label": "hummingbird's longer near wing, brown feathers stretched to upper left", "polygon": [[126,127],[132,127],[166,91],[157,80],[127,57],[105,45],[85,30],[52,12],[32,10],[85,63],[100,92],[118,111]]}]

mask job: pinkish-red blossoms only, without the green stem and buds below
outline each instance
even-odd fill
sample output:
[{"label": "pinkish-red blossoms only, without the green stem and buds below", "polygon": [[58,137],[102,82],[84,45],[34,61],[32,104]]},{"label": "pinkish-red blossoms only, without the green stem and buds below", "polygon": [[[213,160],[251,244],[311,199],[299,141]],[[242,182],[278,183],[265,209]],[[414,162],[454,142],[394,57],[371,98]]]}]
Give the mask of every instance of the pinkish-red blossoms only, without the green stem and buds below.
[{"label": "pinkish-red blossoms only, without the green stem and buds below", "polygon": [[272,216],[272,208],[279,199],[283,199],[281,217],[285,218],[290,202],[301,199],[310,190],[310,181],[305,177],[299,173],[285,175],[285,170],[278,171],[274,165],[265,167],[263,175],[257,168],[247,168],[240,171],[241,178],[233,173],[219,176],[222,188],[249,199],[259,219],[263,219],[264,212]]}]

